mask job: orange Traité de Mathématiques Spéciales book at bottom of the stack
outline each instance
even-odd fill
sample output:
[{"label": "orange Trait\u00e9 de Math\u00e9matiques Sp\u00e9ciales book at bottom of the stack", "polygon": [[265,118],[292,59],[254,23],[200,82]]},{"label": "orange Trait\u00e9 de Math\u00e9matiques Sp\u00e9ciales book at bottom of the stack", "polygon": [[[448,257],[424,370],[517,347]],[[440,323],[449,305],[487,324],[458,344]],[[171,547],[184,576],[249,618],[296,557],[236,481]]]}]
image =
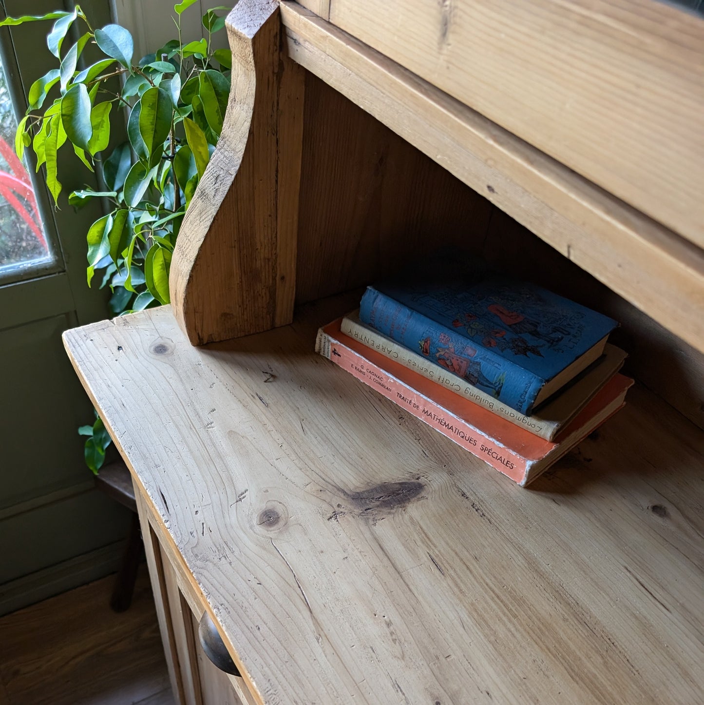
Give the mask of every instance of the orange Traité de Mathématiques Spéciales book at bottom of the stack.
[{"label": "orange Trait\u00e9 de Math\u00e9matiques Sp\u00e9ciales book at bottom of the stack", "polygon": [[316,352],[437,429],[521,486],[615,414],[633,380],[615,374],[569,423],[560,441],[546,441],[340,331],[342,319],[318,331]]}]

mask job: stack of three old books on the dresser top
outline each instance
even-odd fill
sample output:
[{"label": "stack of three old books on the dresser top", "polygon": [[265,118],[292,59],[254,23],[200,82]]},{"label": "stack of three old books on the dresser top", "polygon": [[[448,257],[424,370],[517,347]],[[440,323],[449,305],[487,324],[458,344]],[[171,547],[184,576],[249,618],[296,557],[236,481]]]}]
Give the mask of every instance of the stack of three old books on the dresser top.
[{"label": "stack of three old books on the dresser top", "polygon": [[525,486],[624,405],[617,325],[445,256],[367,288],[316,352]]}]

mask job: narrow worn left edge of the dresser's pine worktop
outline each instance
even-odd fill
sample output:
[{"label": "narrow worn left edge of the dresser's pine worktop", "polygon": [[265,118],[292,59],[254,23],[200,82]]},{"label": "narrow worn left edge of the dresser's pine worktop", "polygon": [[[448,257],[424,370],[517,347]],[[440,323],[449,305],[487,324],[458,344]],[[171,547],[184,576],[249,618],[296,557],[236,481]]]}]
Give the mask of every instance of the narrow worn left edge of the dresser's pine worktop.
[{"label": "narrow worn left edge of the dresser's pine worktop", "polygon": [[[99,321],[98,323],[91,324],[92,326],[97,326],[97,327],[103,327],[106,324],[109,325],[116,325],[115,321]],[[87,326],[88,327],[88,326]],[[163,523],[163,519],[159,515],[159,512],[157,511],[152,511],[151,508],[144,504],[144,498],[147,497],[149,498],[149,502],[152,503],[152,506],[154,505],[154,498],[149,494],[147,491],[147,488],[142,484],[142,480],[140,479],[139,475],[135,471],[135,468],[132,466],[132,462],[130,462],[130,458],[127,453],[125,453],[125,448],[123,448],[122,443],[120,442],[120,436],[116,433],[115,429],[111,426],[109,423],[106,415],[104,414],[103,410],[98,404],[97,398],[95,397],[95,394],[93,392],[92,387],[88,383],[87,379],[85,379],[85,376],[83,376],[80,367],[78,366],[78,361],[75,359],[73,356],[73,350],[71,349],[71,340],[75,338],[75,340],[78,342],[79,339],[79,331],[85,331],[85,328],[83,329],[69,329],[68,331],[64,331],[61,339],[63,341],[63,347],[66,350],[66,354],[68,355],[68,359],[71,361],[71,364],[73,365],[73,369],[75,373],[78,375],[78,379],[80,379],[81,384],[83,388],[85,389],[85,393],[87,393],[89,399],[91,400],[91,403],[102,419],[102,422],[105,426],[106,431],[110,434],[111,439],[113,440],[113,443],[115,443],[115,447],[118,450],[118,453],[120,453],[121,458],[125,461],[125,465],[127,465],[128,470],[130,471],[130,474],[132,475],[132,484],[135,486],[135,496],[137,497],[137,507],[140,507],[140,502],[142,503],[142,509],[147,509],[147,519],[149,521],[149,525],[152,526],[152,529],[154,529],[154,532],[158,532],[159,534],[159,539],[163,539],[164,543],[166,544],[163,546],[166,548],[166,550],[169,553],[169,558],[174,562],[177,563],[175,568],[177,568],[177,576],[180,574],[181,576],[187,577],[187,579],[190,582],[190,589],[184,590],[185,595],[188,597],[190,596],[191,599],[194,599],[194,596],[199,596],[200,602],[210,615],[211,619],[213,620],[214,625],[216,625],[218,629],[218,633],[223,639],[223,643],[227,647],[228,651],[230,652],[230,656],[232,656],[233,661],[235,661],[235,665],[237,666],[237,669],[240,671],[240,675],[242,675],[242,680],[245,681],[245,684],[247,685],[247,688],[249,689],[249,692],[252,694],[252,699],[257,702],[259,705],[266,705],[264,702],[263,697],[261,697],[261,693],[259,692],[259,689],[257,689],[257,686],[254,683],[254,680],[252,680],[252,676],[249,675],[249,672],[247,671],[247,668],[245,668],[245,664],[242,662],[242,658],[240,657],[240,654],[237,652],[237,649],[235,649],[234,644],[230,641],[228,638],[228,635],[226,635],[225,632],[223,632],[219,620],[217,618],[217,615],[213,611],[213,608],[211,607],[209,601],[206,599],[206,596],[198,584],[197,580],[195,580],[192,572],[190,572],[186,562],[185,558],[181,555],[181,552],[178,550],[178,546],[176,546],[176,543],[169,533],[168,529],[166,528],[166,525]],[[140,520],[142,516],[140,515]],[[154,520],[154,523],[156,523],[156,527],[154,527],[154,523],[152,523],[152,520]],[[178,679],[178,676],[175,676]]]}]

